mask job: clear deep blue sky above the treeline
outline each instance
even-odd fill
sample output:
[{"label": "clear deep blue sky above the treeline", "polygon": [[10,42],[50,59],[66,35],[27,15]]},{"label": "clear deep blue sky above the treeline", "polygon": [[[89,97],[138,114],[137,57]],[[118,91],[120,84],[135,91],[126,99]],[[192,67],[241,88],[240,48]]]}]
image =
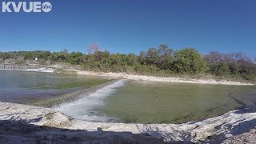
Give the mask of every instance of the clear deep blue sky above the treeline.
[{"label": "clear deep blue sky above the treeline", "polygon": [[67,48],[85,53],[97,43],[114,53],[138,54],[165,43],[174,49],[195,47],[202,54],[242,51],[256,57],[255,0],[48,2],[50,13],[0,11],[0,51]]}]

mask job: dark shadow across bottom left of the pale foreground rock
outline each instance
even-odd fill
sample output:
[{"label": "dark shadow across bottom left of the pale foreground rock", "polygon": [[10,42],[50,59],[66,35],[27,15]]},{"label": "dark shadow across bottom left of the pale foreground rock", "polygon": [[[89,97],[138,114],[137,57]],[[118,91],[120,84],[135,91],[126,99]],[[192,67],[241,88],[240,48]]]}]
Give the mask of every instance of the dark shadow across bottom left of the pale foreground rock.
[{"label": "dark shadow across bottom left of the pale foreground rock", "polygon": [[[150,129],[149,129],[150,130]],[[69,130],[36,126],[26,121],[0,121],[0,143],[163,143],[164,138],[149,134],[87,130]],[[181,143],[181,142],[168,142]]]}]

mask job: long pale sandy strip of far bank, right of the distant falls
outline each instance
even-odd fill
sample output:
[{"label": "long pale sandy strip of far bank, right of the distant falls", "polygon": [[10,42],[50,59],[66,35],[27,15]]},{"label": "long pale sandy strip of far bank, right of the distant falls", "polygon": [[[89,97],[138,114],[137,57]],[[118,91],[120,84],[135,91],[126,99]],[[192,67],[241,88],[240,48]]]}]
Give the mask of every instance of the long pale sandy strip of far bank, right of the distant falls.
[{"label": "long pale sandy strip of far bank, right of the distant falls", "polygon": [[103,76],[110,78],[126,78],[130,80],[137,81],[149,81],[149,82],[178,82],[178,83],[198,83],[198,84],[222,84],[222,85],[243,85],[243,86],[254,86],[252,83],[246,82],[234,82],[227,80],[214,80],[214,79],[186,79],[186,78],[171,78],[171,77],[153,77],[153,76],[145,76],[145,75],[133,75],[133,74],[125,74],[125,73],[96,73],[86,70],[73,70],[76,71],[77,74],[81,75],[93,75],[93,76]]}]

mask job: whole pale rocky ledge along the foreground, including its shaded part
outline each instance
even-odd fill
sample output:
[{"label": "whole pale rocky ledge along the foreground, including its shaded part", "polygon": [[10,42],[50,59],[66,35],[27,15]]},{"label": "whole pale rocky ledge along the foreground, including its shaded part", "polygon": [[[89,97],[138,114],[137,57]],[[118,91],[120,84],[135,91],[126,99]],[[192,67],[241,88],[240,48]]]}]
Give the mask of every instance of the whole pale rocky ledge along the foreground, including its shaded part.
[{"label": "whole pale rocky ledge along the foreground, including its shaded part", "polygon": [[201,122],[84,122],[56,110],[0,102],[0,143],[254,143],[256,107]]}]

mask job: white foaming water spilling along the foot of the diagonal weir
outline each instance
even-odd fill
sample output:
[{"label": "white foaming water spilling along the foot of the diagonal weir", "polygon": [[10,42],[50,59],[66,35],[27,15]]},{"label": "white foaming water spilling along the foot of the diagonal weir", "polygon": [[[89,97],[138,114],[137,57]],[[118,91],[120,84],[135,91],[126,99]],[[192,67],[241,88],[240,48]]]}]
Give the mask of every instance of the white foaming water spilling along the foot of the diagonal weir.
[{"label": "white foaming water spilling along the foot of the diagonal weir", "polygon": [[55,110],[59,110],[64,114],[68,114],[74,118],[90,121],[90,122],[110,122],[114,118],[107,116],[98,116],[98,112],[94,110],[95,107],[103,106],[104,99],[110,94],[113,94],[118,87],[125,86],[127,80],[119,80],[114,82],[110,86],[105,86],[100,90],[96,90],[94,93],[79,99],[78,101],[63,104],[55,107]]}]

